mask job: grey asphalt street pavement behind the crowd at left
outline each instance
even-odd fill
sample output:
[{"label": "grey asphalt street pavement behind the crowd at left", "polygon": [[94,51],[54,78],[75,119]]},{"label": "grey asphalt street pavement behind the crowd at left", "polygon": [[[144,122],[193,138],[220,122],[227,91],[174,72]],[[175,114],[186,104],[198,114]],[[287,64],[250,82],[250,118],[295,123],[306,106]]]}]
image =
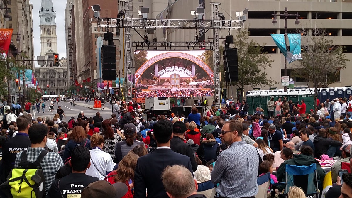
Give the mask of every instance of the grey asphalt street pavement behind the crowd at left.
[{"label": "grey asphalt street pavement behind the crowd at left", "polygon": [[[64,110],[64,114],[65,114],[66,118],[64,117],[63,121],[65,121],[65,122],[67,122],[71,117],[74,117],[76,120],[78,113],[80,111],[83,111],[84,116],[86,116],[88,118],[95,116],[97,111],[100,112],[100,115],[104,119],[111,118],[112,108],[109,103],[105,104],[104,111],[102,111],[101,108],[91,109],[91,108],[93,108],[93,104],[94,104],[94,102],[88,102],[88,104],[86,104],[83,101],[79,101],[79,102],[77,101],[77,102],[75,102],[75,106],[71,106],[68,101],[61,101],[61,102],[59,102],[59,104],[57,104],[55,102],[54,110],[52,110],[52,114],[50,114],[50,102],[46,102],[44,113],[43,113],[42,109],[40,108],[40,113],[38,113],[36,111],[36,118],[37,117],[45,118],[46,116],[51,116],[51,118],[53,118],[56,113],[56,110],[58,109],[58,107],[57,107],[58,105],[60,105],[61,109]],[[107,106],[109,106],[109,107],[107,107]],[[2,118],[3,118],[3,115],[0,115],[0,119],[2,119]]]}]

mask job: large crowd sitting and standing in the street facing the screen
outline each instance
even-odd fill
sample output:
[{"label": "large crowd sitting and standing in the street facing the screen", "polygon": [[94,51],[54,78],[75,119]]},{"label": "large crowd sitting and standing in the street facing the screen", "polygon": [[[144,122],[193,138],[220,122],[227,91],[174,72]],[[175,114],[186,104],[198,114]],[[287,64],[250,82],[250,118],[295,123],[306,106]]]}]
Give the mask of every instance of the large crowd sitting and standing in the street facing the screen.
[{"label": "large crowd sitting and standing in the street facing the screen", "polygon": [[[295,115],[285,99],[268,101],[270,107],[272,102],[277,115],[260,109],[248,115],[246,101],[232,99],[203,116],[193,107],[189,115],[156,120],[145,120],[139,106],[122,101],[115,101],[110,118],[99,112],[88,118],[83,111],[67,122],[63,111],[53,118],[19,115],[1,123],[0,197],[204,198],[216,192],[220,198],[254,198],[258,177],[270,174],[272,184],[285,183],[285,165],[312,164],[322,191],[321,162],[330,158],[337,185],[327,195],[351,197],[352,175],[340,178],[338,170],[352,164],[352,119],[331,120],[316,111]],[[24,176],[39,179],[27,185]],[[281,196],[285,187],[272,185],[268,193]],[[306,196],[293,186],[288,197]]]}]

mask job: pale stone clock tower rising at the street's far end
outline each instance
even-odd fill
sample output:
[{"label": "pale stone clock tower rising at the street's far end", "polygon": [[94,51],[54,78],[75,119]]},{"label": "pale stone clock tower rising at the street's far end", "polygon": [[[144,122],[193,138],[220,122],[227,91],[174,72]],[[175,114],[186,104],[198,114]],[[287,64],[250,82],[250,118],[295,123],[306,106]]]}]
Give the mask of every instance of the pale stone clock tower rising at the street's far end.
[{"label": "pale stone clock tower rising at the street's far end", "polygon": [[52,0],[42,0],[39,10],[40,44],[42,46],[40,56],[45,56],[45,58],[57,53],[55,17],[56,11],[54,11]]}]

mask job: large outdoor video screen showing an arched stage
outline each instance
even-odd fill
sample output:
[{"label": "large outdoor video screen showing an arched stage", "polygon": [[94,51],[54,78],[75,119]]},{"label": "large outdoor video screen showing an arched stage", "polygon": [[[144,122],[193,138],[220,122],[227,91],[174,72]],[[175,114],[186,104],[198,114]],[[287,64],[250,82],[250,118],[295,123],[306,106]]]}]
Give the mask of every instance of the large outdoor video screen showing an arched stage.
[{"label": "large outdoor video screen showing an arched stage", "polygon": [[214,95],[214,73],[205,51],[135,51],[138,98]]}]

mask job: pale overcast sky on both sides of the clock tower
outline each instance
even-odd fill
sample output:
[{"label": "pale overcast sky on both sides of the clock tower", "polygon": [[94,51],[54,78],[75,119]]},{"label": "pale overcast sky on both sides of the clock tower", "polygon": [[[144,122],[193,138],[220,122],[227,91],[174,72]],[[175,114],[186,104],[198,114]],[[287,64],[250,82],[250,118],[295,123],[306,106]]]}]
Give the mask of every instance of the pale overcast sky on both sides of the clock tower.
[{"label": "pale overcast sky on both sides of the clock tower", "polygon": [[[66,39],[65,39],[65,8],[67,0],[52,0],[54,4],[54,11],[56,11],[56,35],[57,35],[57,50],[59,57],[66,58]],[[34,36],[34,59],[37,59],[37,56],[40,56],[40,19],[39,19],[39,10],[41,0],[30,0],[30,3],[33,4],[33,36]],[[35,61],[37,66],[37,61]]]}]

